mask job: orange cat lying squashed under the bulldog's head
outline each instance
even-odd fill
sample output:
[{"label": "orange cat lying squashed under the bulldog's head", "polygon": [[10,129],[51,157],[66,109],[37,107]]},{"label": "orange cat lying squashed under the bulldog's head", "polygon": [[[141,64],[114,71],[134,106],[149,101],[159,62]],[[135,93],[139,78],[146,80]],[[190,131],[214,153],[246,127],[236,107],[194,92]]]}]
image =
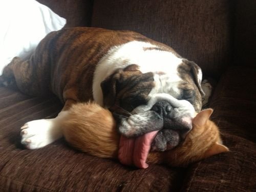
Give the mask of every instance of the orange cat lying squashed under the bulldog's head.
[{"label": "orange cat lying squashed under the bulldog's head", "polygon": [[[66,140],[78,150],[103,158],[118,158],[120,135],[110,111],[95,103],[74,104],[61,123]],[[209,120],[212,109],[201,111],[193,119],[193,129],[173,150],[150,152],[147,163],[186,166],[206,157],[227,152],[217,125]]]}]

